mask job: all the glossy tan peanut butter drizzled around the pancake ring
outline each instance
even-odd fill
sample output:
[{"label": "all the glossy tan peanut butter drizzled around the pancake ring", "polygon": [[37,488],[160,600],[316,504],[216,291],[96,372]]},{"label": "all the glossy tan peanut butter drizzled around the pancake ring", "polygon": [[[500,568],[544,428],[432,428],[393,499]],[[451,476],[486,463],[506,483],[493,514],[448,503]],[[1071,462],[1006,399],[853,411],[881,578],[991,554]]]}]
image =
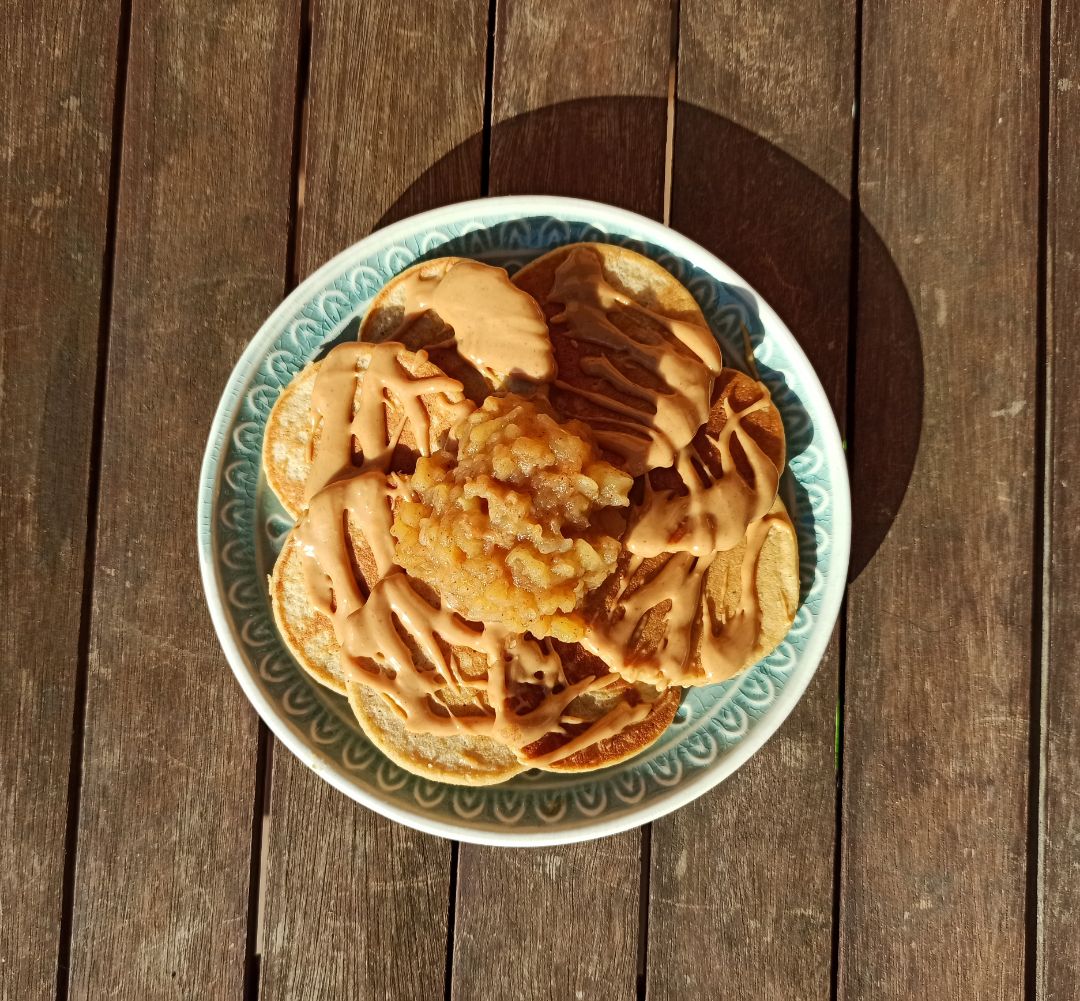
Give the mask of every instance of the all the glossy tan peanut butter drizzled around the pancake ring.
[{"label": "all the glossy tan peanut butter drizzled around the pancake ring", "polygon": [[[497,383],[510,375],[555,380],[543,314],[501,269],[463,260],[441,278],[417,273],[404,284],[406,322],[427,310],[436,312],[454,328],[462,356],[486,377]],[[633,590],[623,587],[617,613],[594,622],[582,646],[619,675],[658,688],[688,682],[694,672],[704,672],[707,680],[730,677],[761,630],[756,587],[761,547],[774,523],[788,524],[769,514],[779,473],[743,424],[769,405],[768,393],[741,411],[725,400],[726,422],[708,441],[720,457],[720,474],[714,476],[692,444],[708,420],[723,364],[708,329],[621,294],[605,281],[598,257],[581,248],[559,266],[551,298],[563,307],[554,322],[565,324],[570,336],[621,353],[665,389],[637,385],[604,354],[583,359],[582,370],[603,380],[610,394],[555,384],[609,415],[597,438],[623,457],[627,469],[672,465],[681,483],[679,490],[654,490],[646,475],[645,499],[623,540],[630,554],[625,584]],[[631,337],[610,320],[620,310],[647,317],[678,346],[660,342],[659,335],[653,342]],[[467,622],[443,603],[429,600],[395,565],[390,526],[396,487],[388,475],[394,447],[407,423],[418,450],[430,455],[434,443],[421,397],[441,393],[448,402],[461,400],[461,384],[454,379],[411,376],[401,364],[404,350],[395,342],[336,348],[312,395],[318,447],[306,485],[308,508],[296,531],[309,597],[333,622],[346,675],[381,693],[413,732],[487,736],[529,765],[568,757],[642,721],[650,705],[622,700],[582,733],[571,734],[566,728],[583,720],[570,713],[570,704],[617,682],[619,675],[571,684],[549,641]],[[388,424],[388,400],[402,415],[395,427]],[[735,469],[735,441],[752,483]],[[355,551],[354,530],[363,533],[368,553]],[[716,552],[744,538],[741,599],[735,613],[716,627],[705,608],[705,578]],[[637,580],[643,560],[663,554],[667,558],[651,576]],[[355,559],[363,564],[359,571]],[[364,581],[372,582],[369,590]],[[635,651],[635,634],[658,607],[666,608],[665,634],[658,649],[643,655]],[[525,754],[551,733],[568,740],[541,757]]]}]

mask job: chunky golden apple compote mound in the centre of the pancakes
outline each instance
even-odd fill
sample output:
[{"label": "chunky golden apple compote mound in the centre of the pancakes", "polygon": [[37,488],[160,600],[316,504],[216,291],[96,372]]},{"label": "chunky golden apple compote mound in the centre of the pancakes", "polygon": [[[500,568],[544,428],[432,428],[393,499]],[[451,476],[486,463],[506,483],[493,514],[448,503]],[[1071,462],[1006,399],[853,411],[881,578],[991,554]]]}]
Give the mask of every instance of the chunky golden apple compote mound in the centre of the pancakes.
[{"label": "chunky golden apple compote mound in the centre of the pancakes", "polygon": [[465,619],[580,638],[570,613],[615,569],[633,481],[588,428],[530,400],[489,396],[457,454],[417,461],[395,505],[395,559]]}]

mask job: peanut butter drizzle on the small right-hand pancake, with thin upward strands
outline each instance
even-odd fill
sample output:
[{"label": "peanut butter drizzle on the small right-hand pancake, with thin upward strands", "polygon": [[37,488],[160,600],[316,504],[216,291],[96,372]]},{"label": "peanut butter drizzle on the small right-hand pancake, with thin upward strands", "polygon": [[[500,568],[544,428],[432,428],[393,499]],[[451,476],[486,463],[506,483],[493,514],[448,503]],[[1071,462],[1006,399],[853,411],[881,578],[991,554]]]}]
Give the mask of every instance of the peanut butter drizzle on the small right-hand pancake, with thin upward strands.
[{"label": "peanut butter drizzle on the small right-hand pancake, with thin upward strands", "polygon": [[[710,475],[691,442],[675,460],[683,481],[681,490],[653,490],[645,477],[645,500],[632,516],[623,545],[636,556],[661,553],[692,553],[705,556],[734,549],[751,523],[768,514],[780,486],[780,471],[761,450],[743,424],[745,418],[771,406],[768,388],[758,382],[761,397],[735,411],[724,400],[724,427],[718,437],[705,435],[720,458],[720,475]],[[704,434],[704,432],[702,432]],[[750,462],[752,482],[735,466],[732,438],[742,446]]]}]

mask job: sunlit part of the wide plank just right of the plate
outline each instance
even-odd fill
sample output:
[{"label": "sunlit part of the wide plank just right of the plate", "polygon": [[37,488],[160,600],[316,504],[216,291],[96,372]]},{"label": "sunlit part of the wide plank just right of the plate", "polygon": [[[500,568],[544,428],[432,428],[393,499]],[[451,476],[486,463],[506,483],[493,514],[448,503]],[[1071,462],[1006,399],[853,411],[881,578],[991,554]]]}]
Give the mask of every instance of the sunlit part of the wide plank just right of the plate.
[{"label": "sunlit part of the wide plank just right of the plate", "polygon": [[[852,585],[839,996],[1023,996],[1037,346],[1039,10],[868,2],[860,194],[927,360],[907,497]],[[903,393],[861,270],[862,415]],[[865,337],[865,339],[864,339]],[[900,414],[903,415],[903,409]],[[902,422],[902,418],[901,418]]]}]

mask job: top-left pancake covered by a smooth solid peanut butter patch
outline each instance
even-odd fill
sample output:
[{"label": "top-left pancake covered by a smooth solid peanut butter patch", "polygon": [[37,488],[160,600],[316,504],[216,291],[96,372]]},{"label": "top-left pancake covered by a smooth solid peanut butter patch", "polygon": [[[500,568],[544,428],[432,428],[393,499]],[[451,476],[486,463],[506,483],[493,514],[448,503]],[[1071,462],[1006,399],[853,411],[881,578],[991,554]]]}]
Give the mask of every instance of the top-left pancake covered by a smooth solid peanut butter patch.
[{"label": "top-left pancake covered by a smooth solid peanut butter patch", "polygon": [[[455,295],[454,272],[460,267],[478,270],[483,298]],[[496,390],[527,395],[554,375],[539,306],[502,268],[460,257],[423,261],[391,279],[372,300],[359,337],[426,350],[477,405]]]}]

